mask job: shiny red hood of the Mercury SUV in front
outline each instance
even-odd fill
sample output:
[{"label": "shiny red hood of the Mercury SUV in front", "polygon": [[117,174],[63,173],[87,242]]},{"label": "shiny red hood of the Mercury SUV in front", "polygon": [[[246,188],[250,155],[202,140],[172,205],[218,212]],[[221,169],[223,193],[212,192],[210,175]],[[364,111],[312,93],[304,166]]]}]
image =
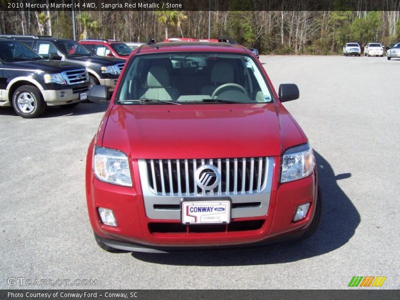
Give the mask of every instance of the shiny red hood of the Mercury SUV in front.
[{"label": "shiny red hood of the Mercury SUV in front", "polygon": [[306,141],[300,130],[276,103],[114,105],[102,146],[131,158],[276,156]]}]

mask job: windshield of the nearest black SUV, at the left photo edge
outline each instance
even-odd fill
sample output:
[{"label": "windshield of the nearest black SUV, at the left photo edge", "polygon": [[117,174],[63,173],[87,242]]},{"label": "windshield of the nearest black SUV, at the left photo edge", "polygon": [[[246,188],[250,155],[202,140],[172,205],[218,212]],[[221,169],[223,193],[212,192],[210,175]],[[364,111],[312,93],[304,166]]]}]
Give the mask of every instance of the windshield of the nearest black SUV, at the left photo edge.
[{"label": "windshield of the nearest black SUV, at the left photo edge", "polygon": [[24,44],[14,40],[0,41],[0,58],[3,61],[43,59]]}]

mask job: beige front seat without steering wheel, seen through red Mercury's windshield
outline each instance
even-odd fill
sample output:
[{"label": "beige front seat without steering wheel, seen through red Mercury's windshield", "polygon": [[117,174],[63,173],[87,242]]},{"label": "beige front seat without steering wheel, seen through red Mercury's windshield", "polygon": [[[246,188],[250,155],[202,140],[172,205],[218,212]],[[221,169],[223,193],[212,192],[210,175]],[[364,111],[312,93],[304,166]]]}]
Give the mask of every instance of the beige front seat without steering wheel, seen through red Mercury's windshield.
[{"label": "beige front seat without steering wheel, seen through red Mercury's windshield", "polygon": [[163,66],[151,66],[148,69],[146,88],[140,91],[140,98],[157,100],[176,100],[179,91],[170,86],[168,71]]}]

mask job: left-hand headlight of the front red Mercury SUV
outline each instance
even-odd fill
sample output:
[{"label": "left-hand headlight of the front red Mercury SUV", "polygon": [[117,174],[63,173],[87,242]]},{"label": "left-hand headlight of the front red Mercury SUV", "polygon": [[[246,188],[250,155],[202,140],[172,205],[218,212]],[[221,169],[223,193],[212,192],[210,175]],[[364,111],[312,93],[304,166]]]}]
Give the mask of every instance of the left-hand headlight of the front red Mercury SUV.
[{"label": "left-hand headlight of the front red Mercury SUV", "polygon": [[95,147],[93,170],[96,177],[105,182],[132,186],[127,156],[121,151]]}]

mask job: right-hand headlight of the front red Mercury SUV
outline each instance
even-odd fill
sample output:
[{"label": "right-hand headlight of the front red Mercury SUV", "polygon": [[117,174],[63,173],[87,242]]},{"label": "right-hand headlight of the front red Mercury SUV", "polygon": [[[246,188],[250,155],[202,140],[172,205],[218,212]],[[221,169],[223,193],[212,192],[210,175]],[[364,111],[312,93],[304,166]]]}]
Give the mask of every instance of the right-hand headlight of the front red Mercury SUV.
[{"label": "right-hand headlight of the front red Mercury SUV", "polygon": [[288,148],[283,153],[280,182],[300,179],[311,174],[314,157],[309,143]]}]

